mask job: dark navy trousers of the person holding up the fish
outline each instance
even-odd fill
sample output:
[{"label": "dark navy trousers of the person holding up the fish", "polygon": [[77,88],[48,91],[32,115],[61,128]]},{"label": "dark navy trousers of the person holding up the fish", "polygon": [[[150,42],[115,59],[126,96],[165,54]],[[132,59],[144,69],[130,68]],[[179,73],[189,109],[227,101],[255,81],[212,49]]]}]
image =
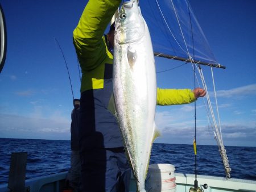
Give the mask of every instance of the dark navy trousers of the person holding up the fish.
[{"label": "dark navy trousers of the person holding up the fish", "polygon": [[88,150],[82,158],[82,192],[128,192],[130,166],[120,148]]}]

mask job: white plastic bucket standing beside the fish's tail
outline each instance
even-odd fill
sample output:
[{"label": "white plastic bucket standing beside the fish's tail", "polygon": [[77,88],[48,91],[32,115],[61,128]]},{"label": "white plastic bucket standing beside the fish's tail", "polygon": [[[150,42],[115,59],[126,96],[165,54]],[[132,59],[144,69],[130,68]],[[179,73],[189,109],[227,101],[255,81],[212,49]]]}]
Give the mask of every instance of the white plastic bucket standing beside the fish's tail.
[{"label": "white plastic bucket standing beside the fish's tail", "polygon": [[146,189],[150,192],[175,192],[175,166],[171,164],[152,164],[148,166]]}]

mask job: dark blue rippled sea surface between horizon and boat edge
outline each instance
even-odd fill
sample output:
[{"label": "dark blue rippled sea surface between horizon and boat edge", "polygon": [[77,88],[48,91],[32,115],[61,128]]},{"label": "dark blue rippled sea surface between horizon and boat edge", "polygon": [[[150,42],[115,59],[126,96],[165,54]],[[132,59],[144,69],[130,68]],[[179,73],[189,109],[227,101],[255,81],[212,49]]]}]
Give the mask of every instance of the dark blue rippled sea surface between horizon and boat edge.
[{"label": "dark blue rippled sea surface between horizon and boat edge", "polygon": [[[0,138],[0,184],[9,178],[12,152],[27,152],[26,179],[67,171],[70,141]],[[231,177],[256,180],[256,147],[225,147]],[[193,145],[153,144],[150,164],[173,164],[176,173],[195,173]],[[218,147],[197,145],[197,174],[226,177]]]}]

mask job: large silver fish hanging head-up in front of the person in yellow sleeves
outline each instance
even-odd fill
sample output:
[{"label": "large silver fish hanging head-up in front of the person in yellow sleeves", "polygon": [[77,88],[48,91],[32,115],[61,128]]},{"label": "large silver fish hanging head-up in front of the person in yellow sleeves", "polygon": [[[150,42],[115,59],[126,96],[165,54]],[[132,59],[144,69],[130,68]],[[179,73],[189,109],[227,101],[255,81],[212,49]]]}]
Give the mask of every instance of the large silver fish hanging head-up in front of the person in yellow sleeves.
[{"label": "large silver fish hanging head-up in front of the person in yellow sleeves", "polygon": [[115,20],[113,91],[127,156],[144,189],[155,131],[156,73],[150,33],[137,1],[123,3]]}]

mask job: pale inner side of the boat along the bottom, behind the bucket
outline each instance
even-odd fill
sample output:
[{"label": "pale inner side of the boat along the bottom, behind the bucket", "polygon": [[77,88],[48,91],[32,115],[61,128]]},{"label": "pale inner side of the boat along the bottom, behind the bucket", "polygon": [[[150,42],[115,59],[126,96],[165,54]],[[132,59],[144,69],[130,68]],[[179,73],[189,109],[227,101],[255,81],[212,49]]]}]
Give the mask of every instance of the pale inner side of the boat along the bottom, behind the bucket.
[{"label": "pale inner side of the boat along the bottom, behind the bucket", "polygon": [[[63,189],[65,183],[65,177],[67,172],[52,174],[49,176],[33,178],[26,180],[26,189],[30,189],[30,192],[59,192]],[[193,187],[195,181],[195,175],[175,173],[176,177],[176,192],[188,192],[190,187]],[[240,180],[231,178],[226,180],[222,177],[213,176],[201,176],[197,175],[198,186],[203,186],[205,183],[208,185],[208,189],[204,189],[205,192],[224,192],[224,191],[250,191],[256,192],[256,181]],[[1,192],[9,192],[7,184],[0,185]],[[171,191],[171,190],[170,190]],[[134,178],[131,178],[130,192],[136,192],[136,182]],[[164,192],[169,192],[168,190]]]}]

